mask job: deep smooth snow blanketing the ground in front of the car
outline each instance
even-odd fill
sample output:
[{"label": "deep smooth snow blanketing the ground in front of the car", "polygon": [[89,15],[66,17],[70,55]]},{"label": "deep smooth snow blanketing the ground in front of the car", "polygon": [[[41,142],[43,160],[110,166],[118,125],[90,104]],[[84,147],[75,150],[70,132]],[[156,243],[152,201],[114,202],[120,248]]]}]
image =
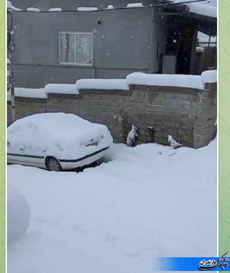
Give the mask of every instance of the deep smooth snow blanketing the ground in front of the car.
[{"label": "deep smooth snow blanketing the ground in front of the car", "polygon": [[114,144],[113,161],[79,173],[8,165],[31,212],[8,272],[149,273],[153,257],[216,256],[216,146]]}]

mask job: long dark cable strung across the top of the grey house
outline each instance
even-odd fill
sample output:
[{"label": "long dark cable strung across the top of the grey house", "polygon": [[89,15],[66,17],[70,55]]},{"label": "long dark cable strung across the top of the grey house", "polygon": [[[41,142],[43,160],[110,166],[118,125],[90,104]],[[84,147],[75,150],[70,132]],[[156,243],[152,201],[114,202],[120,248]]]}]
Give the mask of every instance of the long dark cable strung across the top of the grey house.
[{"label": "long dark cable strung across the top of the grey house", "polygon": [[[97,10],[89,10],[89,12],[101,12],[101,11],[111,11],[111,10],[123,10],[123,9],[135,9],[135,8],[154,8],[154,7],[161,7],[161,6],[175,6],[175,5],[181,5],[181,4],[189,4],[189,3],[197,3],[197,2],[203,2],[207,0],[191,0],[191,1],[185,1],[185,2],[180,2],[180,3],[166,3],[166,4],[157,4],[153,6],[142,6],[142,7],[120,7],[120,8],[107,8],[107,9],[97,9]],[[7,8],[14,10],[12,8]],[[14,10],[16,12],[36,12],[33,10]],[[87,10],[40,10],[37,11],[38,13],[53,13],[53,12],[86,12]]]}]

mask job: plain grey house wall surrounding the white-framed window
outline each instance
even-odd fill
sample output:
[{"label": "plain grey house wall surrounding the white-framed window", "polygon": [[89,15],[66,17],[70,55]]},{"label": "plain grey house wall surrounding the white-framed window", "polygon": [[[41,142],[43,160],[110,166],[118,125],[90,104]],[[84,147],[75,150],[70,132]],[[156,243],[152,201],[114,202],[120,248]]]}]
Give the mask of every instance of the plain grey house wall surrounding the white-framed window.
[{"label": "plain grey house wall surrounding the white-framed window", "polygon": [[[164,24],[153,27],[152,16],[152,9],[145,8],[100,13],[13,12],[15,85],[39,88],[46,83],[75,83],[79,78],[125,78],[135,71],[156,73],[156,41],[161,53],[166,30]],[[58,63],[58,31],[93,32],[92,67]]]}]

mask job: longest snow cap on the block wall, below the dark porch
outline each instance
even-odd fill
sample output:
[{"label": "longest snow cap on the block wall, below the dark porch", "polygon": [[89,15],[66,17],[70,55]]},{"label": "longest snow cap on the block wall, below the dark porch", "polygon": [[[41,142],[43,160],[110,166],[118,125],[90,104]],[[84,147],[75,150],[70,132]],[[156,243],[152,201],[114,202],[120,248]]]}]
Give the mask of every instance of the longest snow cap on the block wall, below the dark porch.
[{"label": "longest snow cap on the block wall, below the dark porch", "polygon": [[143,84],[157,86],[175,86],[204,89],[204,84],[199,75],[169,75],[145,74],[134,72],[126,77],[128,84]]}]

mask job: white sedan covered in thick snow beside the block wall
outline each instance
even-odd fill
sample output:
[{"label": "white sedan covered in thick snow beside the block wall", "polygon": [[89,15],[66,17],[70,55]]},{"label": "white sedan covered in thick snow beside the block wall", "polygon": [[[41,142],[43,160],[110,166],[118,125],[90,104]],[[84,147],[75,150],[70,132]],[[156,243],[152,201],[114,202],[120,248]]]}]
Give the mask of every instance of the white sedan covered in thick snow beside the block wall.
[{"label": "white sedan covered in thick snow beside the block wall", "polygon": [[104,157],[112,142],[105,125],[73,114],[35,114],[7,128],[7,163],[74,169]]}]

